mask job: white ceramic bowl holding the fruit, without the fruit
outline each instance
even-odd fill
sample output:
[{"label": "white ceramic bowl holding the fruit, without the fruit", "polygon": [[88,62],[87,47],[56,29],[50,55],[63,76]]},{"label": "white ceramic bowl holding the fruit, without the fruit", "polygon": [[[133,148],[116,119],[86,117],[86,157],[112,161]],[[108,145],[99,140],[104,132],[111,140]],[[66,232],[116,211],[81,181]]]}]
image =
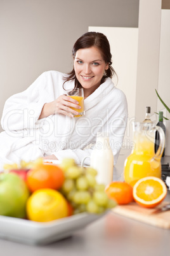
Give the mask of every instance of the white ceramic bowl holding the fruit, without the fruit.
[{"label": "white ceramic bowl holding the fruit, without the fruit", "polygon": [[0,216],[0,238],[31,245],[47,245],[72,236],[108,211],[100,215],[79,213],[51,222],[33,222],[21,218]]}]

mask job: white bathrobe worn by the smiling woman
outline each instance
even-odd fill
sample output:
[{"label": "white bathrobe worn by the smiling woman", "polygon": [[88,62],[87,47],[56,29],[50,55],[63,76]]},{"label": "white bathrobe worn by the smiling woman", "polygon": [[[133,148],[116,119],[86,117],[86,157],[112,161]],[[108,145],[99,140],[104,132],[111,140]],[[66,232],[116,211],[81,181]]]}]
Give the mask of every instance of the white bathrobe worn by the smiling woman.
[{"label": "white bathrobe worn by the smiling woman", "polygon": [[[51,115],[38,119],[42,107],[65,94],[63,75],[57,71],[42,73],[30,87],[11,96],[4,105],[0,134],[0,169],[4,163],[30,161],[54,154],[58,160],[75,159],[77,164],[91,154],[97,132],[109,134],[114,164],[121,150],[128,119],[124,93],[107,78],[84,100],[84,117]],[[74,88],[74,81],[65,89]],[[86,162],[89,163],[88,161]]]}]

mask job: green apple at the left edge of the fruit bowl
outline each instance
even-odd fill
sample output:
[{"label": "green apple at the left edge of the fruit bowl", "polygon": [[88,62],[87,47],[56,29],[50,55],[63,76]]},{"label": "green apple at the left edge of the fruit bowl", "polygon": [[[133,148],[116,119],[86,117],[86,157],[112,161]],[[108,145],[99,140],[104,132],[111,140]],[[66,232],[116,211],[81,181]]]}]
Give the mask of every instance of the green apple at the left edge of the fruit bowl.
[{"label": "green apple at the left edge of the fruit bowl", "polygon": [[25,218],[29,197],[25,181],[14,173],[0,174],[0,215]]}]

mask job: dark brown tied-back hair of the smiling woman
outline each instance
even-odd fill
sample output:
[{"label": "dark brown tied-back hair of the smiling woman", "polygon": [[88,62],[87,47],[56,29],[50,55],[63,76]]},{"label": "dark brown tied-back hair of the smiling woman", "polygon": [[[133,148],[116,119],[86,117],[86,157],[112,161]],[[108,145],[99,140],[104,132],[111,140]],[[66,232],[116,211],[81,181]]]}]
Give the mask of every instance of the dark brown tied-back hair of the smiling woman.
[{"label": "dark brown tied-back hair of the smiling woman", "polygon": [[[108,42],[107,37],[100,33],[100,32],[86,32],[85,34],[83,34],[80,38],[77,39],[77,41],[75,42],[73,48],[72,48],[72,56],[73,58],[75,58],[75,53],[77,52],[77,50],[79,49],[84,49],[84,48],[90,48],[92,46],[97,47],[100,52],[101,55],[103,57],[103,59],[105,60],[105,63],[108,63],[108,69],[105,70],[105,74],[103,75],[103,78],[101,78],[101,83],[105,82],[105,78],[110,77],[112,78],[112,76],[116,75],[114,68],[112,68],[112,54],[110,53],[110,44]],[[63,77],[63,79],[65,80],[65,82],[70,81],[70,80],[75,80],[75,88],[81,88],[81,83],[79,83],[79,81],[77,80],[76,76],[75,76],[75,70],[74,68],[72,69],[72,71],[70,73],[67,74],[67,76]],[[64,84],[63,83],[63,88],[64,88]]]}]

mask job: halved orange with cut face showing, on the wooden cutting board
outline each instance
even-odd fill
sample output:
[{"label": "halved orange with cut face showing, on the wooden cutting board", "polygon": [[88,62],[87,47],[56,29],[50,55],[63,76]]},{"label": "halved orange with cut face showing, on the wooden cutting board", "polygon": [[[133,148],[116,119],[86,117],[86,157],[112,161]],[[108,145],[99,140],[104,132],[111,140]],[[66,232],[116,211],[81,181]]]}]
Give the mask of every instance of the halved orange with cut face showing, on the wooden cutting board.
[{"label": "halved orange with cut face showing, on the wooden cutting board", "polygon": [[133,187],[136,203],[146,208],[154,208],[166,197],[167,188],[160,178],[145,177],[138,180]]}]

